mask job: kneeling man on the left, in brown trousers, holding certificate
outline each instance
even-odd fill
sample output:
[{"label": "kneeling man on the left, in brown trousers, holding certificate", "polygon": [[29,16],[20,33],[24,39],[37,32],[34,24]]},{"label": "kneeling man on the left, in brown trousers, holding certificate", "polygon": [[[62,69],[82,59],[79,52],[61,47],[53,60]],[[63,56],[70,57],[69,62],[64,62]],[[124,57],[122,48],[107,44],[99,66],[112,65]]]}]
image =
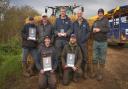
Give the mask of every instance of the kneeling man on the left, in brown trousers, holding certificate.
[{"label": "kneeling man on the left, in brown trousers, holding certificate", "polygon": [[49,36],[45,36],[44,44],[40,44],[40,62],[39,62],[39,89],[56,89],[56,74],[57,57],[56,51],[51,46],[51,39]]}]

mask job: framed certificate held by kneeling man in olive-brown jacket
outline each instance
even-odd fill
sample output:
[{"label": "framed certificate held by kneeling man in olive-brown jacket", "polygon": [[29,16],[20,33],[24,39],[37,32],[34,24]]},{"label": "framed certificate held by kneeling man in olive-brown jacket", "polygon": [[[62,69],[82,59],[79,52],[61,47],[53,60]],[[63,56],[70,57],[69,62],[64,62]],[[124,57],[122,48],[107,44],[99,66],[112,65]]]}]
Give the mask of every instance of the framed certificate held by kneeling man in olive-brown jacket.
[{"label": "framed certificate held by kneeling man in olive-brown jacket", "polygon": [[75,64],[75,54],[68,53],[67,54],[67,66],[74,67],[74,64]]}]

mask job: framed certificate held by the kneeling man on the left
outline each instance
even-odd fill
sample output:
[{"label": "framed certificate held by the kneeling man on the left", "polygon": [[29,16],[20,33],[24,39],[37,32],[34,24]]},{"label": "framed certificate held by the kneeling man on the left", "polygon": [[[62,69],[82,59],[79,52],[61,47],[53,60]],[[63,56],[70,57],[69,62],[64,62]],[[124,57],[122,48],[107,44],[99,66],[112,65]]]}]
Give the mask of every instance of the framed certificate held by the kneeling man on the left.
[{"label": "framed certificate held by the kneeling man on the left", "polygon": [[42,62],[44,71],[52,70],[51,57],[43,57]]}]

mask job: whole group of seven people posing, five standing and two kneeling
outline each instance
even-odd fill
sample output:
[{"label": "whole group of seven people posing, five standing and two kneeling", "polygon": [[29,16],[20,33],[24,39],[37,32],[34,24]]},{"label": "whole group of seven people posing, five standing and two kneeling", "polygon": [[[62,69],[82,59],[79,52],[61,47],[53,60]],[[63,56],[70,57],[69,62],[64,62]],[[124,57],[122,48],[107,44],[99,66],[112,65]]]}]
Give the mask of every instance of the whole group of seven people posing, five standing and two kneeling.
[{"label": "whole group of seven people posing, five standing and two kneeling", "polygon": [[38,26],[34,18],[29,17],[29,23],[22,29],[23,74],[29,76],[26,67],[28,54],[31,54],[39,70],[39,89],[56,89],[56,75],[64,85],[69,85],[71,80],[78,82],[81,76],[87,78],[86,43],[90,34],[94,38],[91,76],[103,79],[109,32],[104,10],[98,10],[98,18],[91,29],[81,11],[77,12],[77,17],[72,23],[62,7],[54,26],[47,15],[43,15]]}]

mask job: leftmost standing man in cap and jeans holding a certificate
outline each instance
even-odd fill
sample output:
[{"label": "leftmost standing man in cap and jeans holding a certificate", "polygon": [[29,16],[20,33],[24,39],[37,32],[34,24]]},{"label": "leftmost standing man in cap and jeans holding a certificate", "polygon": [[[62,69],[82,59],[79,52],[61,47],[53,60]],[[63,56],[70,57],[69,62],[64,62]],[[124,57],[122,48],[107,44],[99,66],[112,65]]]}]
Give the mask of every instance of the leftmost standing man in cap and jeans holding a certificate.
[{"label": "leftmost standing man in cap and jeans holding a certificate", "polygon": [[38,29],[35,25],[34,18],[29,17],[29,23],[24,25],[24,28],[21,31],[22,37],[22,65],[23,65],[23,75],[29,77],[31,74],[27,70],[27,58],[28,54],[31,54],[35,64],[38,60]]}]

